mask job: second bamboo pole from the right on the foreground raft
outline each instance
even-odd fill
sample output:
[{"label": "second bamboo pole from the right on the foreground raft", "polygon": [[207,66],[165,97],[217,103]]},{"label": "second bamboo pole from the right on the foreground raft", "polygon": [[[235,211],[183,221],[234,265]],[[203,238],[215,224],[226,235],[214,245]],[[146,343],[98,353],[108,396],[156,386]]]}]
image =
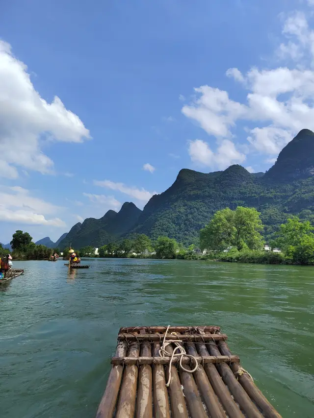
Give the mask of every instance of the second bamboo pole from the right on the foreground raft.
[{"label": "second bamboo pole from the right on the foreground raft", "polygon": [[[220,351],[214,341],[207,344],[209,346],[209,352],[211,355],[219,355]],[[250,399],[249,395],[245,392],[243,387],[236,380],[233,371],[226,363],[217,365],[217,369],[226,383],[231,393],[234,395],[235,401],[239,404],[242,411],[248,418],[263,418],[260,411],[257,409],[255,404]]]}]

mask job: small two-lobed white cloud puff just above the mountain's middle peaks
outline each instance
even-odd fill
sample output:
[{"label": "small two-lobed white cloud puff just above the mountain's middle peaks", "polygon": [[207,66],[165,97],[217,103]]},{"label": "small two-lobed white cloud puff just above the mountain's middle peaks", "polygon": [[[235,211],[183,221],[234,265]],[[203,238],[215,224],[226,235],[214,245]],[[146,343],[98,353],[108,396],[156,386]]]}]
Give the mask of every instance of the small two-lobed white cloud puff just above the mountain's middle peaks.
[{"label": "small two-lobed white cloud puff just above the mountain's middle peaks", "polygon": [[216,152],[213,152],[207,142],[200,139],[189,142],[188,148],[191,160],[194,163],[224,170],[232,164],[240,164],[245,155],[235,149],[235,145],[228,139],[221,142]]}]

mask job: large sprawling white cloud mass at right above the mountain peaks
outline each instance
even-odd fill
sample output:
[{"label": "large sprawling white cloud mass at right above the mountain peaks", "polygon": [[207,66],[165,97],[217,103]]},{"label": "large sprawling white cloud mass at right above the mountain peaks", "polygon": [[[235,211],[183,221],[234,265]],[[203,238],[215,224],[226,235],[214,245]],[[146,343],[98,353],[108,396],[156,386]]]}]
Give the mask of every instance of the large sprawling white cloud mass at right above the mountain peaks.
[{"label": "large sprawling white cloud mass at right above the mountain peaks", "polygon": [[[249,152],[269,156],[278,154],[301,129],[314,130],[314,30],[303,13],[294,12],[286,19],[282,34],[285,41],[279,51],[288,60],[286,66],[251,68],[245,74],[236,68],[226,72],[246,90],[245,101],[235,101],[227,91],[211,86],[194,89],[196,98],[183,106],[182,113],[216,138],[217,149],[204,141],[192,141],[189,153],[193,161],[213,166],[217,158],[217,167],[223,167],[222,161],[228,162],[228,150],[221,148],[225,140],[230,141],[230,164],[241,161],[243,154],[233,142],[239,122],[246,125]],[[243,144],[237,147],[243,149]]]}]

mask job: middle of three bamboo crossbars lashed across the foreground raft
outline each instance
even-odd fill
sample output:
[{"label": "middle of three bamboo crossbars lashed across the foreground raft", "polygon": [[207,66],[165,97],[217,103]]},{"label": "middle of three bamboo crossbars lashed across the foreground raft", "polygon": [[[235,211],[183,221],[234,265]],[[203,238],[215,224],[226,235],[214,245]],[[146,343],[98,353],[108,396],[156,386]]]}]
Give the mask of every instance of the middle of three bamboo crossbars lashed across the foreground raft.
[{"label": "middle of three bamboo crossbars lashed across the foreground raft", "polygon": [[[193,335],[181,335],[181,341],[191,341],[191,342],[204,342],[204,341],[221,341],[227,340],[226,334],[193,334]],[[119,340],[127,340],[127,341],[153,341],[153,342],[161,342],[163,340],[162,334],[126,334],[122,333],[118,335]],[[173,336],[168,334],[166,336],[167,340],[172,340]]]}]

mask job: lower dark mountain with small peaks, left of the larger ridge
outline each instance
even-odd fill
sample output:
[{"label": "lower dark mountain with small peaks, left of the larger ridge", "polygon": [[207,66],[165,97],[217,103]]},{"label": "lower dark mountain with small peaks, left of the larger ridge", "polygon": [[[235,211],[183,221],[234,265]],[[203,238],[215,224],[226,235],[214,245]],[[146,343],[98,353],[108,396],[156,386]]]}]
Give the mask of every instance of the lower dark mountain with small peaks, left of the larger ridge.
[{"label": "lower dark mountain with small peaks, left of the larger ridge", "polygon": [[68,235],[59,243],[60,248],[73,246],[103,246],[116,241],[136,225],[142,211],[134,203],[125,202],[119,212],[109,210],[101,219],[87,218],[77,223]]}]

